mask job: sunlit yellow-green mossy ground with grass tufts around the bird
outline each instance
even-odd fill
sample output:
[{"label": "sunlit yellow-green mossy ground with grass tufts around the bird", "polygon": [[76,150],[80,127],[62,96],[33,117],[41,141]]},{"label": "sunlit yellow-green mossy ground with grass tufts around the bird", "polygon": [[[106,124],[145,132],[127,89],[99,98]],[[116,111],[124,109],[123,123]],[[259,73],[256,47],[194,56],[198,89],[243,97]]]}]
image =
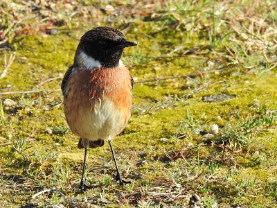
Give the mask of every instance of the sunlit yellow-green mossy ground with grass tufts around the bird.
[{"label": "sunlit yellow-green mossy ground with grass tufts around the bird", "polygon": [[[86,199],[100,207],[188,207],[192,194],[201,197],[204,207],[215,202],[220,207],[274,207],[276,3],[251,2],[123,1],[111,5],[120,8],[117,13],[98,11],[98,24],[81,13],[56,27],[57,35],[14,37],[12,51],[0,51],[1,62],[5,53],[16,52],[0,80],[1,92],[45,92],[1,96],[2,103],[6,98],[17,103],[3,105],[0,114],[0,142],[12,141],[0,146],[1,207],[29,202],[82,207]],[[107,8],[104,2],[78,3]],[[72,64],[80,36],[98,25],[120,28],[127,39],[139,42],[123,55],[136,85],[132,118],[114,139],[120,170],[132,184],[122,189],[114,181],[105,144],[89,150],[87,179],[95,188],[79,193],[83,151],[58,105],[61,92],[51,90],[60,89],[61,73]],[[217,69],[226,71],[205,73]],[[199,76],[139,83],[201,71]],[[39,85],[49,78],[55,79]],[[218,94],[233,98],[203,101]],[[205,139],[211,124],[219,125],[220,132]],[[31,198],[53,187],[58,191]]]}]

